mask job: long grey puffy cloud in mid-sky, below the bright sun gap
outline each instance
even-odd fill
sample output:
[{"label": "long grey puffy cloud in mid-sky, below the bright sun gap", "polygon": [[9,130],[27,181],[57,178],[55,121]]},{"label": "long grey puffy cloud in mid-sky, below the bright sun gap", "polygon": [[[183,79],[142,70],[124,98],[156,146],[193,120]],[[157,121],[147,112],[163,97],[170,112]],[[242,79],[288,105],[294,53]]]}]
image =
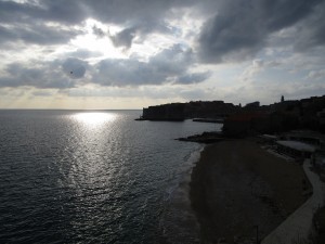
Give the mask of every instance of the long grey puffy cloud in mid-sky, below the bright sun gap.
[{"label": "long grey puffy cloud in mid-sky, below the bright sun gap", "polygon": [[152,56],[148,62],[134,59],[104,60],[95,66],[98,73],[93,80],[102,86],[117,87],[205,80],[207,74],[187,74],[192,61],[192,50],[177,44]]}]

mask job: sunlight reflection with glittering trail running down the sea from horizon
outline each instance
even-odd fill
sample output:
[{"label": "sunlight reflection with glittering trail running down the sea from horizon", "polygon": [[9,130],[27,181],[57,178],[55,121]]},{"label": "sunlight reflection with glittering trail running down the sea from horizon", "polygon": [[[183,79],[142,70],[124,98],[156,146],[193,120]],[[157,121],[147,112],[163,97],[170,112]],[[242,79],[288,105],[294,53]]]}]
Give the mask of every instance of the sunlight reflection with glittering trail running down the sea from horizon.
[{"label": "sunlight reflection with glittering trail running down the sea from horizon", "polygon": [[107,181],[114,168],[107,155],[119,151],[112,149],[112,143],[118,137],[114,132],[118,115],[109,112],[80,112],[72,115],[72,118],[81,125],[76,127],[74,139],[67,145],[73,168],[69,178],[75,182],[72,187],[78,189],[82,184],[91,189],[94,181],[102,180],[103,175]]}]

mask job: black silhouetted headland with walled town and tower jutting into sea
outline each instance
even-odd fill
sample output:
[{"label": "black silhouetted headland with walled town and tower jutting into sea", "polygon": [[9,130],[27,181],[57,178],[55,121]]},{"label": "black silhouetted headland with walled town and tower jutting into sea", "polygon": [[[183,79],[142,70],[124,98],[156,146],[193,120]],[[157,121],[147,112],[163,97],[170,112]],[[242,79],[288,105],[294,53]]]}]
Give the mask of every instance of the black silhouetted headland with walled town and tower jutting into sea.
[{"label": "black silhouetted headland with walled town and tower jutting into sea", "polygon": [[141,119],[179,120],[188,118],[224,119],[224,133],[245,137],[251,132],[275,133],[292,129],[325,132],[325,95],[285,101],[261,106],[259,102],[242,105],[223,101],[171,103],[143,108]]}]

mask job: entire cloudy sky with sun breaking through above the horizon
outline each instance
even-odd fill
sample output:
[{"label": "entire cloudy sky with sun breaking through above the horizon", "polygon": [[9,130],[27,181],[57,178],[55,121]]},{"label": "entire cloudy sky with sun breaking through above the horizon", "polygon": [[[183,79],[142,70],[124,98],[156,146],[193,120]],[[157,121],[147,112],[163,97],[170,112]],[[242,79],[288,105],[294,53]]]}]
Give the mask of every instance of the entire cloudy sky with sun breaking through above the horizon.
[{"label": "entire cloudy sky with sun breaking through above the horizon", "polygon": [[0,108],[325,94],[325,0],[0,0]]}]

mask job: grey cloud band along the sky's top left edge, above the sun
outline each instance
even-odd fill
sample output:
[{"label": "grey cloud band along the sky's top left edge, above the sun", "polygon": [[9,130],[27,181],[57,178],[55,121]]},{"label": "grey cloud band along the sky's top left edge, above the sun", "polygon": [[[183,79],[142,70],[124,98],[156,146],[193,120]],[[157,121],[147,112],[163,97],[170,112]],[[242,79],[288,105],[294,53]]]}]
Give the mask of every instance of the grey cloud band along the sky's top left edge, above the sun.
[{"label": "grey cloud band along the sky's top left edge, above the sun", "polygon": [[0,1],[0,22],[43,22],[79,24],[88,17],[105,23],[125,24],[139,18],[159,20],[170,8],[186,5],[181,0],[42,0],[17,3]]}]

